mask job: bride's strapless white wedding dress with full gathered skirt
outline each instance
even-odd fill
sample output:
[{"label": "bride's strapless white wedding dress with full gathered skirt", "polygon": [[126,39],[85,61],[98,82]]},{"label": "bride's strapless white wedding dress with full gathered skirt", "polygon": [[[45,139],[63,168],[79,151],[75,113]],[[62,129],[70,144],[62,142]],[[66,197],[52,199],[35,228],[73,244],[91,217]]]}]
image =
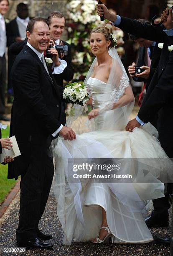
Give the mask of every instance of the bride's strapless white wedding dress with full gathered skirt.
[{"label": "bride's strapless white wedding dress with full gathered skirt", "polygon": [[[89,77],[87,84],[92,95],[93,107],[105,105],[105,90],[112,90],[96,78]],[[54,193],[57,213],[64,230],[63,243],[90,241],[97,237],[102,223],[102,208],[106,211],[107,223],[112,232],[112,242],[148,243],[153,237],[144,221],[146,200],[164,197],[164,184],[155,183],[70,183],[68,159],[75,158],[120,158],[120,159],[167,159],[158,139],[145,131],[149,126],[125,131],[127,118],[114,123],[114,111],[108,110],[93,118],[94,130],[76,135],[76,140],[67,141],[60,137],[54,148],[56,174]],[[112,125],[107,127],[107,121]],[[90,122],[90,121],[89,121]],[[104,129],[105,127],[105,129]],[[154,128],[153,128],[154,129]],[[156,164],[156,163],[154,163]],[[152,166],[149,166],[152,169]],[[163,166],[160,166],[160,171]],[[157,176],[157,175],[156,175]],[[102,208],[101,208],[102,207]]]}]

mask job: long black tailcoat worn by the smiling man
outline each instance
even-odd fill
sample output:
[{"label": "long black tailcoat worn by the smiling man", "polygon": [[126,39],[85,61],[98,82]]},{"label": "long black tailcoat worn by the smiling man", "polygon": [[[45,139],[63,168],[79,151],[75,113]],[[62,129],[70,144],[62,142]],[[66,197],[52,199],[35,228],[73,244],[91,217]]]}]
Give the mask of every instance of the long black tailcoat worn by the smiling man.
[{"label": "long black tailcoat worn by the smiling man", "polygon": [[11,71],[14,102],[10,136],[16,136],[21,156],[9,164],[9,179],[25,172],[36,148],[35,154],[41,157],[43,142],[61,125],[62,87],[52,79],[37,54],[25,45]]}]

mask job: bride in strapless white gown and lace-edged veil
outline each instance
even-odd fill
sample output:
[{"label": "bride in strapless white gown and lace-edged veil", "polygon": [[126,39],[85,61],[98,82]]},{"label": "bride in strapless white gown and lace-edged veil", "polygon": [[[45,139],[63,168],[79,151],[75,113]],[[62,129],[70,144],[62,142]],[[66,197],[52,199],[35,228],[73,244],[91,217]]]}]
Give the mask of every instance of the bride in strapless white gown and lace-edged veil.
[{"label": "bride in strapless white gown and lace-edged veil", "polygon": [[[63,243],[70,245],[72,240],[102,243],[110,238],[112,243],[148,243],[153,237],[144,221],[146,202],[164,197],[164,184],[157,179],[158,172],[154,172],[157,161],[153,159],[168,157],[151,134],[152,130],[155,133],[152,125],[135,128],[132,133],[125,131],[134,96],[114,48],[110,24],[92,30],[90,47],[96,59],[84,84],[90,94],[86,104],[92,105],[93,110],[88,114],[87,125],[83,123],[85,132],[82,132],[80,124],[84,119],[79,120],[79,115],[83,107],[74,105],[66,125],[73,127],[79,123],[76,140],[59,137],[54,148],[54,193],[64,230]],[[144,164],[150,158],[153,164],[146,165],[148,169],[145,166],[150,175],[143,174],[144,183],[102,183],[93,179],[71,182],[73,172],[68,170],[68,159],[76,158],[135,158],[143,159]],[[160,165],[159,172],[164,167]],[[133,168],[127,170],[130,172],[133,173]],[[154,183],[149,182],[151,176]]]}]

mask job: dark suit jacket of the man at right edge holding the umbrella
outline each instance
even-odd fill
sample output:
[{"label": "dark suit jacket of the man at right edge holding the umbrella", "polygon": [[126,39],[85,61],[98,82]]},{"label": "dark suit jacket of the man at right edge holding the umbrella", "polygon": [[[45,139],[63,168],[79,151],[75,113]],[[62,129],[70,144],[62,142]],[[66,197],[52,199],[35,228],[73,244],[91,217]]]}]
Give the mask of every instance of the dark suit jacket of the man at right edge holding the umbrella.
[{"label": "dark suit jacket of the man at right edge holding the umbrella", "polygon": [[138,117],[148,123],[162,108],[159,117],[159,140],[166,154],[173,158],[173,51],[168,51],[168,46],[173,45],[173,38],[167,36],[162,27],[142,25],[137,20],[121,18],[118,27],[122,30],[164,43],[158,67],[151,79]]}]

